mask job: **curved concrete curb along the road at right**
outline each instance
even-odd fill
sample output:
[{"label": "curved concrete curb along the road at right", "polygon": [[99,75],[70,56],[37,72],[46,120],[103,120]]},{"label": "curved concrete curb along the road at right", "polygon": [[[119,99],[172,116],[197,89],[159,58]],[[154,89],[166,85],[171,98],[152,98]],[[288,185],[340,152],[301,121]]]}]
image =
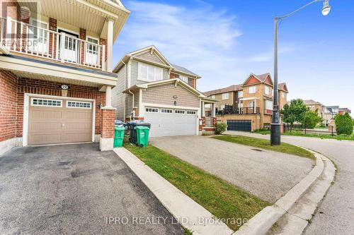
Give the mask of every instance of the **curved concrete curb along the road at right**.
[{"label": "curved concrete curb along the road at right", "polygon": [[[312,169],[312,171],[307,174],[307,176],[304,177],[299,183],[297,183],[290,191],[288,191],[282,198],[280,198],[277,202],[275,202],[274,205],[265,207],[261,212],[258,212],[254,217],[249,219],[249,222],[244,224],[239,228],[238,231],[234,232],[234,235],[260,235],[260,234],[266,234],[269,229],[273,227],[273,224],[275,222],[278,222],[278,220],[285,215],[285,213],[289,212],[290,208],[294,206],[297,201],[302,198],[302,195],[307,192],[307,190],[314,185],[315,181],[319,179],[321,174],[325,175],[324,181],[327,181],[329,185],[325,185],[325,189],[319,188],[316,190],[318,191],[317,193],[320,193],[321,197],[316,198],[315,207],[314,210],[316,210],[316,207],[318,203],[321,201],[322,198],[324,198],[324,195],[326,194],[326,191],[328,190],[329,186],[331,186],[331,182],[333,181],[333,176],[334,176],[334,166],[331,160],[324,155],[319,154],[318,152],[314,152],[312,150],[309,150],[312,153],[314,153],[314,156],[316,157],[316,166]],[[325,167],[325,163],[326,166]],[[313,210],[313,211],[314,211]],[[312,217],[312,212],[309,214]],[[298,231],[299,234],[302,233],[303,229],[307,226],[308,221],[304,220],[302,223],[304,226],[301,227],[301,231]]]}]

